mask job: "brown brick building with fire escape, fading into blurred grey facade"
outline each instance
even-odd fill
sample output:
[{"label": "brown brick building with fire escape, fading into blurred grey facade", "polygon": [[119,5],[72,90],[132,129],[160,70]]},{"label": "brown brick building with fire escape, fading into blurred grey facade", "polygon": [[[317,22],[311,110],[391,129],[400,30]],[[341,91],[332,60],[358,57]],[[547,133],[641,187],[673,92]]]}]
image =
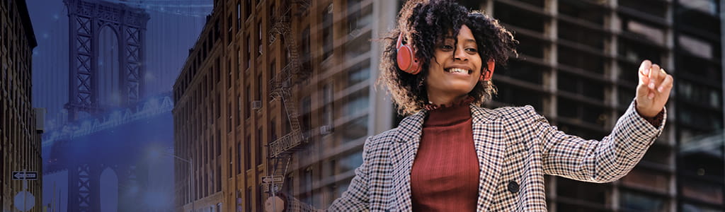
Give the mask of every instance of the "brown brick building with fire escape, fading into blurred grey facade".
[{"label": "brown brick building with fire escape, fading into blurred grey facade", "polygon": [[[193,183],[188,164],[175,164],[178,211],[260,211],[261,178],[277,172],[283,190],[309,203],[339,196],[365,137],[392,128],[392,105],[373,88],[370,39],[392,26],[395,7],[215,1],[173,88],[176,155],[193,161]],[[276,148],[291,137],[297,151]]]}]

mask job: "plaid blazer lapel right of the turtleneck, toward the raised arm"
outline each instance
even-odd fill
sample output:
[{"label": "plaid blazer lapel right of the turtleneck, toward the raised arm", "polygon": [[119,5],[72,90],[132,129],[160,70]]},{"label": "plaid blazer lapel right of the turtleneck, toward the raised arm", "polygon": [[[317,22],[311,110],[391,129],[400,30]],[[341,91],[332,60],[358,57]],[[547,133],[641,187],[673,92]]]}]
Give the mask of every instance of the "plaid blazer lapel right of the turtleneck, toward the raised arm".
[{"label": "plaid blazer lapel right of the turtleneck, toward the raised arm", "polygon": [[480,167],[477,211],[486,211],[501,176],[506,148],[505,132],[501,126],[489,124],[498,117],[495,111],[471,104],[471,113],[473,116],[473,145],[476,146]]}]

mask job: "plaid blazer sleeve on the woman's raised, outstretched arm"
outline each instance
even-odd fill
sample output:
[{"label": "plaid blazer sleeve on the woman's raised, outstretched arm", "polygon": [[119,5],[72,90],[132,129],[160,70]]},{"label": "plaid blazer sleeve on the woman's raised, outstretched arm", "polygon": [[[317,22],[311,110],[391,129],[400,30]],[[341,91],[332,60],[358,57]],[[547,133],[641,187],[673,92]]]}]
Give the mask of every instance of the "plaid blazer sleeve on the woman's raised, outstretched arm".
[{"label": "plaid blazer sleeve on the woman's raised, outstretched arm", "polygon": [[612,182],[624,177],[660,136],[667,119],[664,109],[662,123],[654,127],[637,113],[632,101],[608,136],[602,140],[584,140],[561,132],[544,116],[528,108],[534,116],[532,131],[538,132],[544,174],[585,182]]}]

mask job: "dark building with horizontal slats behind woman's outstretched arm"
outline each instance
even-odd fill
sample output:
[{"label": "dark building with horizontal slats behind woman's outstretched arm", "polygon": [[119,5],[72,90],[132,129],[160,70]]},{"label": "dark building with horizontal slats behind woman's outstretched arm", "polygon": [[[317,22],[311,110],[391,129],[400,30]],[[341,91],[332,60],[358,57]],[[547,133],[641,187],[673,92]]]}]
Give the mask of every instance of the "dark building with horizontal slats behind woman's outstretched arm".
[{"label": "dark building with horizontal slats behind woman's outstretched arm", "polygon": [[608,135],[634,98],[643,59],[676,88],[645,158],[608,184],[547,176],[550,211],[725,209],[721,11],[714,0],[461,1],[515,32],[521,56],[497,69],[489,104],[530,104],[560,130]]}]

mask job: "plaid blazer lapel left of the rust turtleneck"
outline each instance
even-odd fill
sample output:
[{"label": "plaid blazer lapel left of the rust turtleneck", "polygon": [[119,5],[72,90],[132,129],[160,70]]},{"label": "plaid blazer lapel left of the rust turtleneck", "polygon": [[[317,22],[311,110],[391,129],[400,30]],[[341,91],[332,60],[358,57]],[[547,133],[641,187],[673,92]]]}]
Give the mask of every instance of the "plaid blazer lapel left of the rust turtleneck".
[{"label": "plaid blazer lapel left of the rust turtleneck", "polygon": [[426,111],[423,110],[403,119],[398,126],[397,142],[392,146],[393,186],[400,211],[413,210],[410,200],[410,170],[413,169],[413,159],[421,143],[425,117]]}]

